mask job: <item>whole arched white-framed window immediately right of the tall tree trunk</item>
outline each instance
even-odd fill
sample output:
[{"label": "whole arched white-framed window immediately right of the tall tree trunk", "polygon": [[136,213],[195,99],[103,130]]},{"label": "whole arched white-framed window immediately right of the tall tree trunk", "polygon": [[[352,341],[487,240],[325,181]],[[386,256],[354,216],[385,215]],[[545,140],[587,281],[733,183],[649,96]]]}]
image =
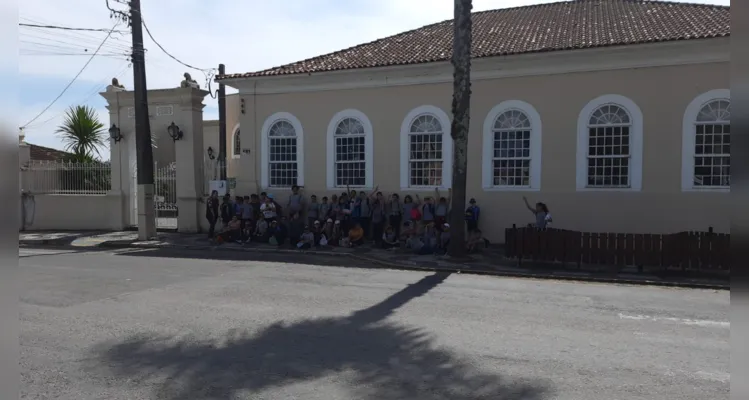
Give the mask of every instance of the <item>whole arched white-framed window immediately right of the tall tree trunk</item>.
[{"label": "whole arched white-framed window immediately right of the tall tree trunk", "polygon": [[483,187],[538,190],[541,186],[541,116],[530,104],[509,100],[484,121]]}]

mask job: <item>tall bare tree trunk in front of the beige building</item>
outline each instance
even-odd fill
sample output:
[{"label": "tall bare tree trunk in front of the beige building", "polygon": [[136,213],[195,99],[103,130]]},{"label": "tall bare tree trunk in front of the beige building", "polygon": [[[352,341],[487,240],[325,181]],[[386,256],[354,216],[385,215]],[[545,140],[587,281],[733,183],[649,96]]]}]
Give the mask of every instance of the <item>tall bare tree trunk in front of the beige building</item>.
[{"label": "tall bare tree trunk in front of the beige building", "polygon": [[471,118],[471,9],[472,0],[454,0],[453,21],[453,192],[448,255],[464,257],[468,128]]}]

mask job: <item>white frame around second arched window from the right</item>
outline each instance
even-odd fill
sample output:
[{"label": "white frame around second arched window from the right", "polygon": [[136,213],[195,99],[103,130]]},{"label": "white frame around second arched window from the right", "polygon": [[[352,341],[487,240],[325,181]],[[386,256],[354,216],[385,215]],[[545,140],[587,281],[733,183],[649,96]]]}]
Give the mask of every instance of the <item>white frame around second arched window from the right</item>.
[{"label": "white frame around second arched window from the right", "polygon": [[[607,104],[616,105],[629,113],[632,126],[629,131],[629,187],[588,187],[588,123],[593,112]],[[579,192],[639,192],[642,191],[643,117],[640,107],[630,98],[619,94],[606,94],[588,102],[577,118],[577,191]]]}]

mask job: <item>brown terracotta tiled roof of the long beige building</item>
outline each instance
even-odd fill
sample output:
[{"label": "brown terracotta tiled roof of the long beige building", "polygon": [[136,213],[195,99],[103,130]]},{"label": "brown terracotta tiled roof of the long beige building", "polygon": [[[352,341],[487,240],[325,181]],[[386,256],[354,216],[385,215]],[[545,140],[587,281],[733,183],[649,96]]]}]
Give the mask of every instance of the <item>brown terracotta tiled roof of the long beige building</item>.
[{"label": "brown terracotta tiled roof of the long beige building", "polygon": [[[473,14],[473,57],[729,36],[730,7],[649,0],[573,0]],[[449,60],[452,20],[228,78],[292,75]]]}]

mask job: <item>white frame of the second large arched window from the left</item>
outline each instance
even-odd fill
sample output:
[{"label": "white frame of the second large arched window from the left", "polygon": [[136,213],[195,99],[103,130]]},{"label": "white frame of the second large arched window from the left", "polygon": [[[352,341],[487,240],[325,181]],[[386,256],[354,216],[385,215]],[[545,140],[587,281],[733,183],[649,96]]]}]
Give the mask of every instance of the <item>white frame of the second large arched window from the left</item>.
[{"label": "white frame of the second large arched window from the left", "polygon": [[345,186],[335,185],[335,131],[338,124],[346,118],[356,118],[364,127],[364,157],[366,157],[364,168],[364,186],[350,186],[351,189],[372,190],[374,186],[374,135],[372,123],[367,116],[356,109],[347,109],[337,112],[328,124],[327,139],[327,186],[328,190],[338,190]]}]

